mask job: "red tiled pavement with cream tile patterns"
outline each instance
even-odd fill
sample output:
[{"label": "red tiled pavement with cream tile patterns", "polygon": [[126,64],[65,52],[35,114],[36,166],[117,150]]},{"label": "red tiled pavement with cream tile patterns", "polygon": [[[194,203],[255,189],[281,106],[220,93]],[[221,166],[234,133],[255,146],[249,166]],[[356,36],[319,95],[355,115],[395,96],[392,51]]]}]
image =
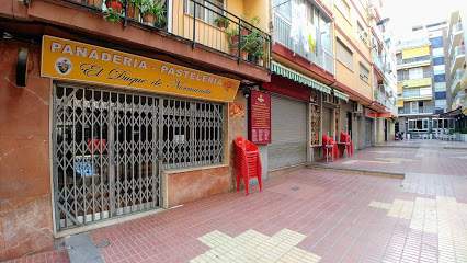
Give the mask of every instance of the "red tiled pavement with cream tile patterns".
[{"label": "red tiled pavement with cream tile patterns", "polygon": [[467,149],[443,147],[467,144],[392,141],[329,164],[405,180],[305,169],[90,235],[110,241],[106,262],[467,262]]}]

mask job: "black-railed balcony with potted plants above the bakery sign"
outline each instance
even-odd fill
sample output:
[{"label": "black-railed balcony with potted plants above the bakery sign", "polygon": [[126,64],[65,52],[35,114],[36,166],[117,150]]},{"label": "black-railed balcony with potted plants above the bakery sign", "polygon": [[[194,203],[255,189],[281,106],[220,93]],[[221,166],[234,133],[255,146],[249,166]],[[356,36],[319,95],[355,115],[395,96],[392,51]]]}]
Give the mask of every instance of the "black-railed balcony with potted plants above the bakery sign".
[{"label": "black-railed balcony with potted plants above the bakery sign", "polygon": [[[96,12],[105,12],[112,8],[119,15],[119,23],[123,26],[128,24],[145,26],[163,32],[166,36],[186,41],[193,48],[213,49],[237,59],[238,62],[247,61],[271,69],[271,35],[258,27],[259,18],[254,16],[246,21],[218,5],[221,3],[207,0],[173,0],[169,5],[169,1],[143,0],[143,3],[149,2],[150,7],[159,8],[153,14],[153,12],[145,12],[148,9],[147,5],[135,5],[128,0],[123,0],[123,3],[119,0],[62,1]],[[105,13],[102,15],[104,16]]]}]

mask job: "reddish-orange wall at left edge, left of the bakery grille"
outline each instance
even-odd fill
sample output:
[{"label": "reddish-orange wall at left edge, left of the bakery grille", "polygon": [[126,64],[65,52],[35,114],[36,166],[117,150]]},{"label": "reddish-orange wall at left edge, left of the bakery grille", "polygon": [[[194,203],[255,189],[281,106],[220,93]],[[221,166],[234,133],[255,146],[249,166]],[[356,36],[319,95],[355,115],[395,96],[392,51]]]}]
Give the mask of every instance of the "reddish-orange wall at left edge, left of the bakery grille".
[{"label": "reddish-orange wall at left edge, left of the bakery grille", "polygon": [[[20,47],[30,48],[26,87],[15,85]],[[0,261],[54,248],[50,80],[39,65],[39,46],[0,39]]]}]

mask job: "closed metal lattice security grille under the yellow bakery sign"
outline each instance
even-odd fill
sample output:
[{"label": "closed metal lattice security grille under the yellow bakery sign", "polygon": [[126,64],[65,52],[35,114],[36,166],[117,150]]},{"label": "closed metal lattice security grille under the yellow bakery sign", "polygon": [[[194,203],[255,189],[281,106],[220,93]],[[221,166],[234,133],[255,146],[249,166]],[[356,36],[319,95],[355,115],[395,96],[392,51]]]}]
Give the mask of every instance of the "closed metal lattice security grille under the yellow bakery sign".
[{"label": "closed metal lattice security grille under the yellow bakery sign", "polygon": [[158,207],[160,169],[220,163],[223,105],[54,87],[58,230]]}]

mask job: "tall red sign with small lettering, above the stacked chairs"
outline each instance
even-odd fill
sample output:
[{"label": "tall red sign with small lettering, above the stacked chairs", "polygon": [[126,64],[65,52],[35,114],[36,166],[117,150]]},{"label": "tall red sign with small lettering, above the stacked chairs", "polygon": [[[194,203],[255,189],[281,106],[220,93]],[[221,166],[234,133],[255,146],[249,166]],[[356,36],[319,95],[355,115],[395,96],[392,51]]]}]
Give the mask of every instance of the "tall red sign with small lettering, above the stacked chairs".
[{"label": "tall red sign with small lettering, above the stacked chairs", "polygon": [[251,91],[250,127],[248,135],[253,144],[271,144],[271,95]]}]

